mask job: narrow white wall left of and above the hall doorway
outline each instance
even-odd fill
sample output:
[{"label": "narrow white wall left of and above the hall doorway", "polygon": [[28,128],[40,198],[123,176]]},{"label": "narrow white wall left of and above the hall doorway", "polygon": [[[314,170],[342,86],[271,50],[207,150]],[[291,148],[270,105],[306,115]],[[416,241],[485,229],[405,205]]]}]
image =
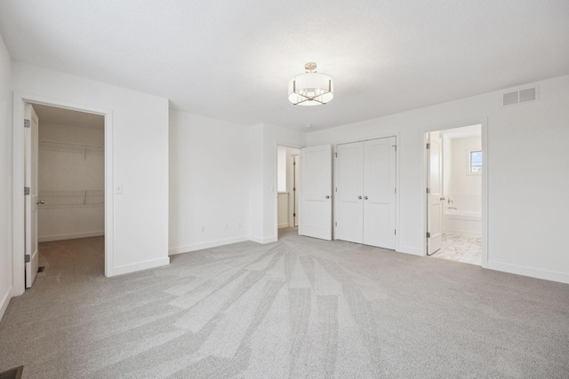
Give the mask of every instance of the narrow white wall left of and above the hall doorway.
[{"label": "narrow white wall left of and above the hall doorway", "polygon": [[306,134],[261,123],[249,128],[252,241],[277,240],[276,146],[303,147]]}]

